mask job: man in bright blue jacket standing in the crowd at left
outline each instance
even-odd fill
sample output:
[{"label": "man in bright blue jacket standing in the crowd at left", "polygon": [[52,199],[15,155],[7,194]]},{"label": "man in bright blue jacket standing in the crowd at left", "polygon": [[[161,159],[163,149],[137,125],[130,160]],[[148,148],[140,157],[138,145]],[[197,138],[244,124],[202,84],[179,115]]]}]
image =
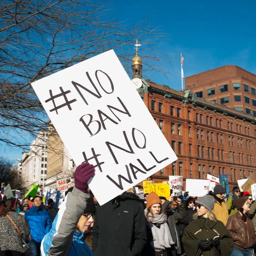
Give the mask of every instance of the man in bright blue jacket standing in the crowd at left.
[{"label": "man in bright blue jacket standing in the crowd at left", "polygon": [[40,256],[40,246],[44,235],[47,234],[52,227],[52,220],[47,210],[41,207],[42,198],[36,195],[32,199],[33,206],[29,211],[25,212],[26,219],[30,227],[29,247],[31,256]]}]

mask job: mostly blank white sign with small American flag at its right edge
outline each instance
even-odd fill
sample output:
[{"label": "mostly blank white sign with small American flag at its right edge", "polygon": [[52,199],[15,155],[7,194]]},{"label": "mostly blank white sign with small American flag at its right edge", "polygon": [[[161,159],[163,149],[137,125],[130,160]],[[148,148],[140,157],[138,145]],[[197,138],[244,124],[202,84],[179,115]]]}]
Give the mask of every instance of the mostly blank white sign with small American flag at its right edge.
[{"label": "mostly blank white sign with small American flag at its right edge", "polygon": [[186,179],[189,196],[204,196],[209,193],[210,180]]}]

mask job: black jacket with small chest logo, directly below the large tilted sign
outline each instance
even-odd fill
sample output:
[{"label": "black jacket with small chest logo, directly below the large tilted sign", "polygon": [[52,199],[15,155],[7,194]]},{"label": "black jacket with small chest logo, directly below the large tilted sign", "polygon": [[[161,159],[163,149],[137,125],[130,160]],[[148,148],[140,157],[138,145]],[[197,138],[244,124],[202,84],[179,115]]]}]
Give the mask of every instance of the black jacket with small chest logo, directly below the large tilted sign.
[{"label": "black jacket with small chest logo, directly below the large tilted sign", "polygon": [[139,256],[147,241],[143,204],[124,192],[102,206],[93,223],[94,256]]}]

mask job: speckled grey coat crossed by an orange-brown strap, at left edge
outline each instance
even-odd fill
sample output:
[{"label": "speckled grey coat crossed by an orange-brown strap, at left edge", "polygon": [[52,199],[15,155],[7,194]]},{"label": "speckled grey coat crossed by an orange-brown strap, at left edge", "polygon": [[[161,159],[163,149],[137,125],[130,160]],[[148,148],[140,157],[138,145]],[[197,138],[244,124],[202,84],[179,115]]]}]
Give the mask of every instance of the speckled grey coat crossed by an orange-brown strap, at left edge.
[{"label": "speckled grey coat crossed by an orange-brown strap, at left edge", "polygon": [[[24,215],[16,212],[8,212],[8,216],[15,223],[20,233],[23,234],[23,239],[28,239],[30,228]],[[0,250],[13,250],[20,253],[25,253],[20,234],[18,233],[15,226],[6,216],[0,216]]]}]

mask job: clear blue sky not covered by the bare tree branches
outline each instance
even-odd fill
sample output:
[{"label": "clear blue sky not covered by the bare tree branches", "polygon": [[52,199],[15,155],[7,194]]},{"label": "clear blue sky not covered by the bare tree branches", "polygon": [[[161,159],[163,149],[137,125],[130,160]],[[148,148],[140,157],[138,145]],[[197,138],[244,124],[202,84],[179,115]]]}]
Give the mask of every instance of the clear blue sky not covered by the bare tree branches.
[{"label": "clear blue sky not covered by the bare tree branches", "polygon": [[[159,45],[161,51],[171,54],[172,63],[165,64],[165,69],[172,75],[145,74],[158,84],[181,89],[180,52],[184,57],[185,77],[223,65],[237,65],[256,74],[255,1],[108,0],[108,3],[126,23],[135,25],[146,18],[172,38]],[[0,155],[15,160],[21,158],[21,151],[10,151],[3,145]]]}]

